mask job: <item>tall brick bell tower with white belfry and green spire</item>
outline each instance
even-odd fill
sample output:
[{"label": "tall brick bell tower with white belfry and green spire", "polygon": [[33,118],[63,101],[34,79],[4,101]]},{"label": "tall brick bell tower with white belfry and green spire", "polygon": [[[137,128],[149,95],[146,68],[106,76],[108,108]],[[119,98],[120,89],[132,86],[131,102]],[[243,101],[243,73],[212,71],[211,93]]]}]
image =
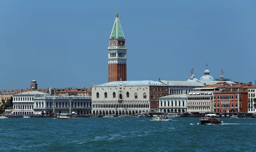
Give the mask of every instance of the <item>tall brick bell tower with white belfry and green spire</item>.
[{"label": "tall brick bell tower with white belfry and green spire", "polygon": [[125,35],[122,31],[118,12],[109,38],[108,47],[108,82],[127,81],[126,77]]}]

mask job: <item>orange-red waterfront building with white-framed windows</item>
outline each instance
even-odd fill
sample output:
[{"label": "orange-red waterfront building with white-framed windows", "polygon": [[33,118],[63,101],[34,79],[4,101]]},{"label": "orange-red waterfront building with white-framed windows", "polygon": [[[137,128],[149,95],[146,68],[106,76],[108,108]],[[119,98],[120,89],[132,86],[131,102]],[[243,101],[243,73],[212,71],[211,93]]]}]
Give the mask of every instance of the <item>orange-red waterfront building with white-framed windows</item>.
[{"label": "orange-red waterfront building with white-framed windows", "polygon": [[248,93],[243,86],[230,87],[214,93],[215,113],[248,112]]}]

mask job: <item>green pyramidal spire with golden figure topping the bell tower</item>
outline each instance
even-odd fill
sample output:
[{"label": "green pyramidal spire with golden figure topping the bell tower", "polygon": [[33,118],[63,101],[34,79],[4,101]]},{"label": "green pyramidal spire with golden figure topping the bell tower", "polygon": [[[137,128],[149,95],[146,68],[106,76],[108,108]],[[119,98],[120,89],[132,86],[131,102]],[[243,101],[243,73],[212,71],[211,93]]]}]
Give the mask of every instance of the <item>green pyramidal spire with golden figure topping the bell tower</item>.
[{"label": "green pyramidal spire with golden figure topping the bell tower", "polygon": [[116,11],[116,20],[112,28],[110,39],[116,39],[116,38],[125,39],[125,35],[122,31],[122,26],[121,26],[117,11]]}]

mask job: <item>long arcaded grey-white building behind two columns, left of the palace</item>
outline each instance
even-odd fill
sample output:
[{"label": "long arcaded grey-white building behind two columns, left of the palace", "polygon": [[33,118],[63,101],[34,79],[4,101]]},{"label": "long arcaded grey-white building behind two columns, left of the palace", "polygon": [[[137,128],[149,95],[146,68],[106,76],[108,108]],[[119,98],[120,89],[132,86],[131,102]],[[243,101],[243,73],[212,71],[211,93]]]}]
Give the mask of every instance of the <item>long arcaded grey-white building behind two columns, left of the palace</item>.
[{"label": "long arcaded grey-white building behind two columns, left of the palace", "polygon": [[34,97],[34,113],[69,113],[70,102],[72,112],[77,115],[89,115],[92,109],[91,96],[46,96]]}]

